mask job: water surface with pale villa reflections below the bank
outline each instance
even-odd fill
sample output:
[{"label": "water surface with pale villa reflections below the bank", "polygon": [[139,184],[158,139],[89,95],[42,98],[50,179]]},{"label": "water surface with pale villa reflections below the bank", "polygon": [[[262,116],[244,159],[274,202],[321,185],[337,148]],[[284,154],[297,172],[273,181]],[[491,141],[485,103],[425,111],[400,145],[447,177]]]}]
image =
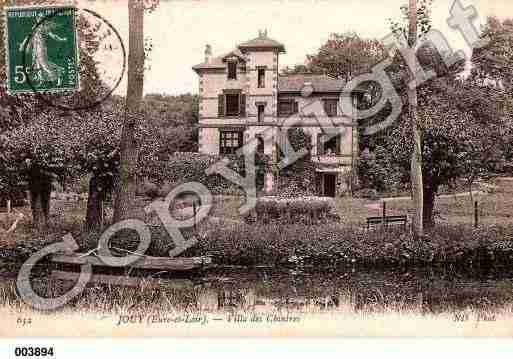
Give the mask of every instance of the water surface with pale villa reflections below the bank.
[{"label": "water surface with pale villa reflections below the bank", "polygon": [[[174,286],[170,275],[157,288],[94,284],[71,307],[119,311],[199,310],[205,312],[373,312],[414,310],[453,313],[513,307],[513,275],[504,270],[456,273],[424,270],[302,273],[296,271],[216,271]],[[175,280],[177,281],[177,280]],[[180,279],[183,282],[183,279]],[[45,296],[57,296],[71,282],[34,280]],[[0,303],[19,302],[14,281],[0,284]]]}]

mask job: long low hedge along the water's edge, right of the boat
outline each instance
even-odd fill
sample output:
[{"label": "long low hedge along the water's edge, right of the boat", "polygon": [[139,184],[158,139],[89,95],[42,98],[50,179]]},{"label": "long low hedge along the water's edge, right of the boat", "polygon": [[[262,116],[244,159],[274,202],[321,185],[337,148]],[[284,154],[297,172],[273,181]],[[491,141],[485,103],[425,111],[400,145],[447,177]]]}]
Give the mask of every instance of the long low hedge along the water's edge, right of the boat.
[{"label": "long low hedge along the water's edge, right of the boat", "polygon": [[424,239],[401,229],[366,231],[335,224],[218,224],[190,254],[220,265],[511,266],[513,229],[439,226]]}]

